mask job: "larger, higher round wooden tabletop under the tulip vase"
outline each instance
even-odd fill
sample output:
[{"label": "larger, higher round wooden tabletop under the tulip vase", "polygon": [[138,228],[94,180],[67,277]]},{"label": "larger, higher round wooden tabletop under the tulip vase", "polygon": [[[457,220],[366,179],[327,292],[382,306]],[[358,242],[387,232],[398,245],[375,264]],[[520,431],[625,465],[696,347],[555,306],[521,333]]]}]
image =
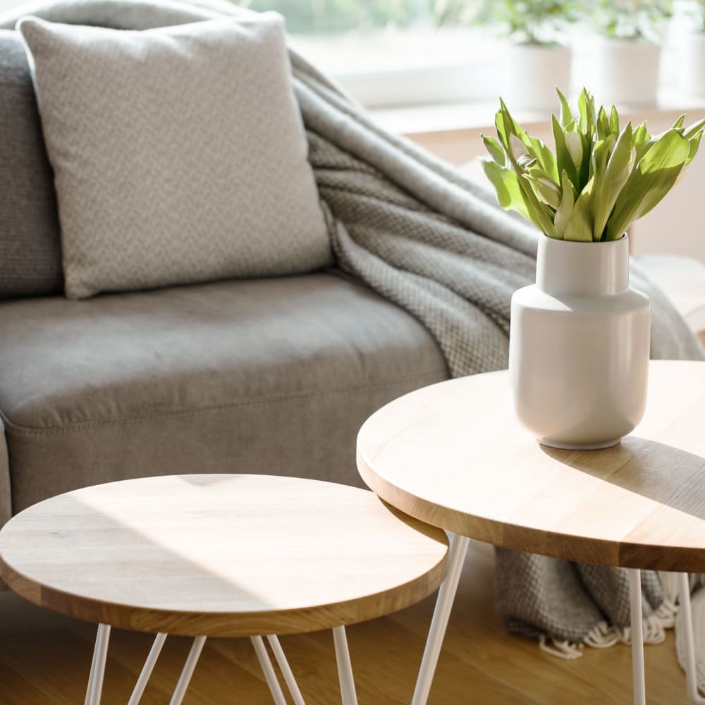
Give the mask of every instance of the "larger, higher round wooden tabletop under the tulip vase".
[{"label": "larger, higher round wooden tabletop under the tulip vase", "polygon": [[540,446],[492,372],[381,408],[358,469],[403,512],[496,546],[705,572],[705,362],[653,362],[649,376],[646,416],[613,448]]}]

